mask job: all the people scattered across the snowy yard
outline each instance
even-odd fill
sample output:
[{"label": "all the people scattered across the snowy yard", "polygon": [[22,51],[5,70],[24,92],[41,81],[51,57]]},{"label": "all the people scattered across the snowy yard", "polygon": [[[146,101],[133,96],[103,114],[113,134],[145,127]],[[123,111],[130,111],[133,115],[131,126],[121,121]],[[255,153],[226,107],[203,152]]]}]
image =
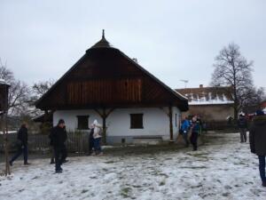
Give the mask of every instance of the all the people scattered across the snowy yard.
[{"label": "all the people scattered across the snowy yard", "polygon": [[[240,141],[246,142],[246,129],[247,122],[243,115],[239,116],[239,130],[240,130]],[[188,135],[191,132],[190,141],[193,146],[193,150],[198,149],[198,136],[200,134],[200,129],[202,124],[200,118],[193,116],[192,120],[188,117],[184,118],[180,133],[183,135],[186,147],[189,147]],[[101,132],[102,126],[98,124],[95,120],[90,126],[90,136],[89,144],[90,151],[89,155],[92,154],[94,148],[95,155],[102,155],[101,149]],[[59,123],[51,129],[51,134],[49,135],[51,139],[51,147],[53,148],[53,156],[55,157],[55,172],[63,172],[61,165],[66,162],[66,125],[63,119],[59,120]],[[24,155],[24,164],[29,164],[27,162],[27,124],[22,124],[20,131],[18,132],[18,152],[12,156],[9,164],[12,165],[13,162],[21,155]],[[256,111],[256,116],[254,116],[253,122],[249,129],[249,142],[251,152],[256,154],[259,159],[259,171],[262,179],[262,186],[266,187],[266,177],[265,177],[265,156],[266,156],[266,116],[262,110]]]}]

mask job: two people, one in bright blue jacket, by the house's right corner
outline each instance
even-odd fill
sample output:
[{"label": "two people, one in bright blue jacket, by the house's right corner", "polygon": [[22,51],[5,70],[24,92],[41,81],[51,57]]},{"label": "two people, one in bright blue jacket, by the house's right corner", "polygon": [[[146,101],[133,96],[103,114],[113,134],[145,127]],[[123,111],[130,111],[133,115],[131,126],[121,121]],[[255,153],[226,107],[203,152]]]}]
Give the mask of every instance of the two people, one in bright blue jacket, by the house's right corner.
[{"label": "two people, one in bright blue jacket, by the house's right corner", "polygon": [[201,129],[202,129],[202,124],[200,117],[193,116],[192,120],[189,120],[188,117],[184,118],[179,132],[183,136],[186,147],[189,147],[190,145],[188,136],[189,132],[191,132],[190,141],[192,143],[193,150],[196,151],[198,149],[198,136],[201,132]]}]

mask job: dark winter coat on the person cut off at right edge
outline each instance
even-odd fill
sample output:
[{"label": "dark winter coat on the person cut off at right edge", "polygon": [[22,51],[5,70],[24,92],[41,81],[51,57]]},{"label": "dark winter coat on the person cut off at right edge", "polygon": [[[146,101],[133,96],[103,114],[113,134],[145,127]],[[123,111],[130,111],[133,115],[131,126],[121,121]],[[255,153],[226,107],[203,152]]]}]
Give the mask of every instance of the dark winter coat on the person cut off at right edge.
[{"label": "dark winter coat on the person cut off at right edge", "polygon": [[249,132],[249,142],[252,153],[266,156],[266,116],[254,116]]}]

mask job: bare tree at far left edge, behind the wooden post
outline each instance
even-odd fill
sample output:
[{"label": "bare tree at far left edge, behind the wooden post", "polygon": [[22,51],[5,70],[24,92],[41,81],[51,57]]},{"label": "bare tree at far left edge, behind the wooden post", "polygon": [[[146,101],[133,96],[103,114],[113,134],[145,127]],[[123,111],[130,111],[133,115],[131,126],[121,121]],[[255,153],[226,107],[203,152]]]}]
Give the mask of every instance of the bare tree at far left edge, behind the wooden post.
[{"label": "bare tree at far left edge, behind the wooden post", "polygon": [[29,100],[29,89],[27,84],[16,80],[12,70],[6,68],[0,60],[0,78],[11,84],[8,96],[8,113],[9,115],[20,115],[27,109]]}]

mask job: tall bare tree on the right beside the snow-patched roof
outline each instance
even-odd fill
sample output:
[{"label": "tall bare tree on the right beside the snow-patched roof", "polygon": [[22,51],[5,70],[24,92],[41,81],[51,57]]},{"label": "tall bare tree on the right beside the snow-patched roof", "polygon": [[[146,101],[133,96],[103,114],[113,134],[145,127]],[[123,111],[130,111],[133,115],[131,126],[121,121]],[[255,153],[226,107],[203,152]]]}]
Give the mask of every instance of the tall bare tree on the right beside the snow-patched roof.
[{"label": "tall bare tree on the right beside the snow-patched roof", "polygon": [[245,101],[254,93],[252,79],[253,61],[247,61],[239,52],[238,44],[229,44],[215,58],[215,71],[212,75],[213,86],[227,86],[227,93],[234,101],[234,119],[238,118],[239,110]]}]

